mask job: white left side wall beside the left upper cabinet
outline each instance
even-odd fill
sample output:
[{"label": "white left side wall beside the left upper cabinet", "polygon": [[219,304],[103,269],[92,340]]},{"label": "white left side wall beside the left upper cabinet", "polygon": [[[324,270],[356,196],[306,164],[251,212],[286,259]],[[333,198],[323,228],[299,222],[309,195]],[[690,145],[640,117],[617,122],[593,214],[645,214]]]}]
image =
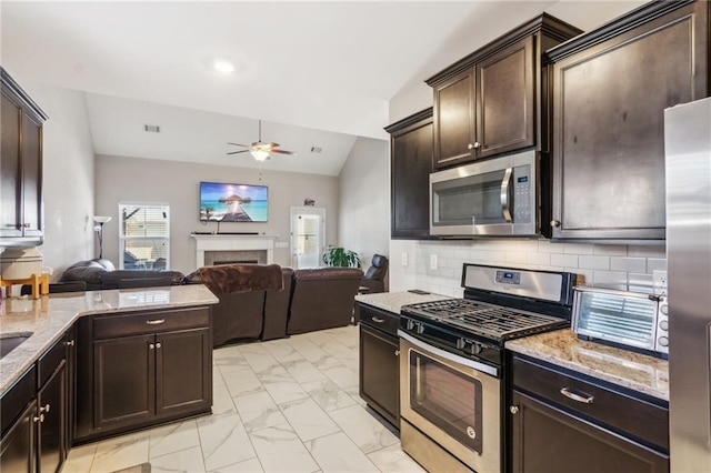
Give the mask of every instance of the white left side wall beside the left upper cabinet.
[{"label": "white left side wall beside the left upper cabinet", "polygon": [[49,115],[43,125],[44,244],[39,250],[57,281],[67,266],[93,258],[94,160],[87,102],[82,92],[13,79]]}]

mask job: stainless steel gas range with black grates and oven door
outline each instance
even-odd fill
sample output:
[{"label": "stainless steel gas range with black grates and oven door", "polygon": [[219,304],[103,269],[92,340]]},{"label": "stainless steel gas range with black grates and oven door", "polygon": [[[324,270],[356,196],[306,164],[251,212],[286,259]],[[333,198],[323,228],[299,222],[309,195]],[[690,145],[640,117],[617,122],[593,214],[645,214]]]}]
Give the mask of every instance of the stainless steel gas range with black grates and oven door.
[{"label": "stainless steel gas range with black grates and oven door", "polygon": [[505,469],[507,340],[570,325],[575,275],[464,264],[464,299],[400,314],[402,449],[430,471]]}]

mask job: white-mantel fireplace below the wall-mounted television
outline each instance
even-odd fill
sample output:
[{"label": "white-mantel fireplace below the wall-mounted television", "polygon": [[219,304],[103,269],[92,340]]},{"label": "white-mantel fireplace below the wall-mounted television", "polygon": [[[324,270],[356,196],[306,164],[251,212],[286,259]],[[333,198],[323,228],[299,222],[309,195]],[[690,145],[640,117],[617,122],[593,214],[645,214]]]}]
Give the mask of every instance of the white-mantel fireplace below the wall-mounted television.
[{"label": "white-mantel fireplace below the wall-mounted television", "polygon": [[276,235],[192,234],[192,238],[197,242],[197,268],[238,262],[274,262]]}]

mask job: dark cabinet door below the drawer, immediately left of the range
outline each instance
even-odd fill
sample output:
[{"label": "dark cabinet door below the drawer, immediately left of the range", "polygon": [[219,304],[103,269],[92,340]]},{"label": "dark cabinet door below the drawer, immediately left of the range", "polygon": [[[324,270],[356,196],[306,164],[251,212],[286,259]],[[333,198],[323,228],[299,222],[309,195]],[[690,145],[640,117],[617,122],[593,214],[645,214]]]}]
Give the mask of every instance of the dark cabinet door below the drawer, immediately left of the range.
[{"label": "dark cabinet door below the drawer, immediately left of the range", "polygon": [[383,417],[400,426],[398,339],[360,325],[360,395]]}]

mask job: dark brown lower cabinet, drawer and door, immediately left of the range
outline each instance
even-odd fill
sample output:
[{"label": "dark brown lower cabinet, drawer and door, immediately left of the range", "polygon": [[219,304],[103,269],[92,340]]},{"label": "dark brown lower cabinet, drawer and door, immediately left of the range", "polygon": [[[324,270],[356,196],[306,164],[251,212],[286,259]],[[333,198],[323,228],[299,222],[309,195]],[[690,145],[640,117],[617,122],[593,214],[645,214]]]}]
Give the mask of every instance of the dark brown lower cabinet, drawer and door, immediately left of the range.
[{"label": "dark brown lower cabinet, drawer and door, immediately left of the range", "polygon": [[360,396],[400,427],[399,316],[360,305]]}]

